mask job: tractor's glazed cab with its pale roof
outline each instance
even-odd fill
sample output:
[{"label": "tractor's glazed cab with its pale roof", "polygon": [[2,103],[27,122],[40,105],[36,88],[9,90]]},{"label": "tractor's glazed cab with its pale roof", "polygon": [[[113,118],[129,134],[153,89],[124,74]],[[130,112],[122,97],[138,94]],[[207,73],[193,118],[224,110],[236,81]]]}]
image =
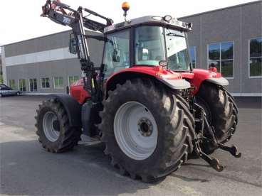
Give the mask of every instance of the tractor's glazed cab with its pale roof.
[{"label": "tractor's glazed cab with its pale roof", "polygon": [[105,76],[138,65],[189,71],[187,32],[191,28],[192,23],[172,16],[144,16],[106,27]]}]

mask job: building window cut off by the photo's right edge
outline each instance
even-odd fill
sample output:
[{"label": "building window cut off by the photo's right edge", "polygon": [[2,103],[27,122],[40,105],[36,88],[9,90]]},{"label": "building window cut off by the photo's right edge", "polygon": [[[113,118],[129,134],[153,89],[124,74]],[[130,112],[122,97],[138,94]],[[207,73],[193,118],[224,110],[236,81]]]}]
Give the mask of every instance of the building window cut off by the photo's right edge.
[{"label": "building window cut off by the photo's right edge", "polygon": [[249,76],[262,76],[262,38],[249,40]]}]

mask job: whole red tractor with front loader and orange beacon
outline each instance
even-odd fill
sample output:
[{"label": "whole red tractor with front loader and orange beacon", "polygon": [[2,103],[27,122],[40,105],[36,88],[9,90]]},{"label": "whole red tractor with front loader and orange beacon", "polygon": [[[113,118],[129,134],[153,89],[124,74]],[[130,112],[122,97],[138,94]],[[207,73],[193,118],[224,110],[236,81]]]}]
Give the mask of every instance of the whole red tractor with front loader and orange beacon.
[{"label": "whole red tractor with front loader and orange beacon", "polygon": [[[144,182],[164,178],[190,157],[222,171],[210,156],[218,148],[241,156],[236,146],[224,144],[238,124],[236,103],[224,87],[229,82],[216,67],[192,69],[192,23],[169,15],[128,20],[127,2],[125,21],[117,24],[60,1],[46,1],[42,9],[41,16],[72,28],[69,50],[83,74],[70,95],[54,94],[36,110],[36,134],[47,151],[69,151],[84,134],[104,143],[122,175]],[[85,29],[100,34],[90,36]],[[90,60],[88,39],[104,43],[101,65]]]}]

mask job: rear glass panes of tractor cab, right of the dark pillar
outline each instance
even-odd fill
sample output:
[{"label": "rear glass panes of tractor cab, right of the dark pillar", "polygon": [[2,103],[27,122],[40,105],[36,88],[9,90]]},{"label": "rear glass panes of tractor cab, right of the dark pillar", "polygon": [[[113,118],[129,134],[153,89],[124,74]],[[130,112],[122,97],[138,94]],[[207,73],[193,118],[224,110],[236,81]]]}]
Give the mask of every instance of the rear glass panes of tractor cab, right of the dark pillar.
[{"label": "rear glass panes of tractor cab, right of the dark pillar", "polygon": [[184,32],[159,26],[135,30],[135,64],[159,65],[167,60],[170,70],[189,70],[189,53]]}]

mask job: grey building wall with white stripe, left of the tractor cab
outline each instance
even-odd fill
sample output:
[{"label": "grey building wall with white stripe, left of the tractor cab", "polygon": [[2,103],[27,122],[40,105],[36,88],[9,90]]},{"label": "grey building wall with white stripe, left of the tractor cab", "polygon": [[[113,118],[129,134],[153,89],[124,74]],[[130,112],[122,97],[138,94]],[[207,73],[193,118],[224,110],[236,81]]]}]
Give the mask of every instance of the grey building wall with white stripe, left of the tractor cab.
[{"label": "grey building wall with white stripe, left of the tractor cab", "polygon": [[[88,31],[88,34],[98,35],[98,33],[90,31]],[[9,65],[6,66],[6,83],[8,83],[9,80],[15,80],[16,87],[18,88],[19,79],[25,79],[26,92],[29,92],[28,80],[30,78],[36,78],[38,85],[37,92],[65,93],[69,76],[82,77],[79,60],[73,58],[73,56],[69,56],[68,58],[69,36],[70,31],[66,31],[5,45],[5,60],[7,60],[7,64]],[[88,40],[90,58],[97,67],[99,67],[102,62],[103,44],[103,42],[98,40]],[[56,60],[56,57],[58,57],[58,60]],[[49,78],[50,88],[41,88],[41,78],[43,77]],[[63,77],[63,88],[54,88],[54,77]]]}]

